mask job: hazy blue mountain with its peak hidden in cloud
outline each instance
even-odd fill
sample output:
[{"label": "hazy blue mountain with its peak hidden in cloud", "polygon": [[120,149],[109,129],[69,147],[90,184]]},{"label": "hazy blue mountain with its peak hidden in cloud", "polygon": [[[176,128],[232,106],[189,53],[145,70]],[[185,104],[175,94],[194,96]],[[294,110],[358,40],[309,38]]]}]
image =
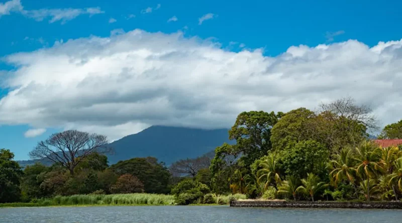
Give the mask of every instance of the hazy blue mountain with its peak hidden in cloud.
[{"label": "hazy blue mountain with its peak hidden in cloud", "polygon": [[154,156],[169,165],[178,159],[203,155],[224,142],[234,143],[229,140],[228,129],[151,126],[110,143],[114,154],[108,158],[114,164],[134,157]]}]

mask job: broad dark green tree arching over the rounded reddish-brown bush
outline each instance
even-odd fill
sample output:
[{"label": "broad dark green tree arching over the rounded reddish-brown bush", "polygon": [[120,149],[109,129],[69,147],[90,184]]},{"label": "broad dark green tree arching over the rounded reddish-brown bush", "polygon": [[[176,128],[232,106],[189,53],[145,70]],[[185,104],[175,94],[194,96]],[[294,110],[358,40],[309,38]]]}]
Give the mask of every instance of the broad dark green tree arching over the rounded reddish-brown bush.
[{"label": "broad dark green tree arching over the rounded reddish-brown bush", "polygon": [[118,175],[131,174],[144,184],[147,193],[168,193],[170,172],[163,163],[153,157],[133,158],[110,167]]}]

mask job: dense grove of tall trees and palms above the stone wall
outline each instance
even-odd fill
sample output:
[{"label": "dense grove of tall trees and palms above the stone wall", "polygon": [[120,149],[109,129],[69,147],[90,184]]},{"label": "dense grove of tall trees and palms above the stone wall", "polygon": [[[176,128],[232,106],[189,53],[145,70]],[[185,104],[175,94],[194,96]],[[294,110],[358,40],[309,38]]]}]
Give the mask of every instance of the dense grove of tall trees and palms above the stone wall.
[{"label": "dense grove of tall trees and palms above the stone wall", "polygon": [[[402,148],[380,148],[368,139],[376,129],[371,110],[350,98],[316,112],[241,113],[229,131],[235,145],[215,150],[211,188],[248,197],[390,200],[402,193]],[[402,120],[380,138],[402,138]]]}]

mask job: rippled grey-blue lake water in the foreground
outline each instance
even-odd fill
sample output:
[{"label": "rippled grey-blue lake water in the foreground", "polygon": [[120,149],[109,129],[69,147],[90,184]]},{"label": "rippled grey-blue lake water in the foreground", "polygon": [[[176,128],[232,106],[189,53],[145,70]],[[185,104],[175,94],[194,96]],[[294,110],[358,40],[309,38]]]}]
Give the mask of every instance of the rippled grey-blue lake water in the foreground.
[{"label": "rippled grey-blue lake water in the foreground", "polygon": [[0,223],[400,223],[402,210],[93,206],[0,208]]}]

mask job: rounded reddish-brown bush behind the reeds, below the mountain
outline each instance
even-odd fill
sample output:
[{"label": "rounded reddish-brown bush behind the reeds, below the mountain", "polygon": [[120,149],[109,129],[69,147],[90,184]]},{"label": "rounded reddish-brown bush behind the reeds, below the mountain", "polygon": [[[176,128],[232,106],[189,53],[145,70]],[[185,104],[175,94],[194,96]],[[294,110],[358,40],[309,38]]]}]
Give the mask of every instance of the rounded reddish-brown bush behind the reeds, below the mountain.
[{"label": "rounded reddish-brown bush behind the reeds, below the mountain", "polygon": [[123,174],[110,190],[112,193],[140,193],[144,191],[144,184],[131,174]]}]

